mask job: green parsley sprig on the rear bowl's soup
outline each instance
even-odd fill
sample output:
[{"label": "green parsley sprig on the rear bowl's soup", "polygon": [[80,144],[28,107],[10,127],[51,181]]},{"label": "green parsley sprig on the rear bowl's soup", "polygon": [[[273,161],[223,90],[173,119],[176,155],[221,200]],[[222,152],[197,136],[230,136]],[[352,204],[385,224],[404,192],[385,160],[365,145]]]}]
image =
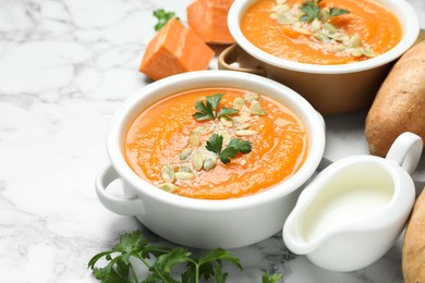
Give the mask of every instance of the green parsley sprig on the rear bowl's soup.
[{"label": "green parsley sprig on the rear bowl's soup", "polygon": [[350,13],[349,10],[336,7],[332,7],[329,10],[321,9],[319,7],[321,1],[323,0],[317,0],[317,2],[315,0],[306,0],[301,7],[303,14],[300,17],[300,21],[312,22],[317,19],[323,23],[326,23],[330,17]]}]

